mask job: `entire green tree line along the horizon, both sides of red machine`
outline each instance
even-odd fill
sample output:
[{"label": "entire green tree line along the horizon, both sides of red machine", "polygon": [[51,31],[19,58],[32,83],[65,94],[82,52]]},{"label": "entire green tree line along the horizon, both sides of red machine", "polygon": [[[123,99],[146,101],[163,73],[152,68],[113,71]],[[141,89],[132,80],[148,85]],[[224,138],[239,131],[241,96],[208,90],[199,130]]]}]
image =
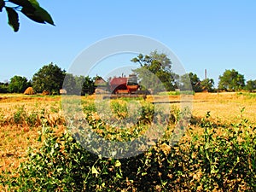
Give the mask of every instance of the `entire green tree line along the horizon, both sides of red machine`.
[{"label": "entire green tree line along the horizon, both sides of red machine", "polygon": [[[256,79],[244,79],[244,75],[238,73],[235,69],[225,70],[219,75],[218,88],[214,88],[213,79],[199,79],[195,73],[186,73],[179,76],[172,72],[172,61],[165,54],[160,54],[156,50],[149,55],[139,54],[132,58],[131,61],[138,63],[140,67],[133,70],[140,79],[142,88],[150,88],[161,91],[157,79],[164,85],[165,90],[194,90],[201,91],[239,91],[239,90],[256,90]],[[151,75],[154,74],[154,75]],[[51,95],[60,94],[63,88],[62,84],[65,79],[64,89],[68,94],[85,95],[92,94],[96,89],[96,79],[101,77],[74,76],[58,67],[56,64],[49,63],[41,67],[37,73],[32,76],[31,80],[26,77],[15,75],[9,82],[0,83],[0,93],[23,93],[28,87],[32,87],[34,92],[42,93],[44,91]],[[108,84],[106,84],[108,86]]]}]

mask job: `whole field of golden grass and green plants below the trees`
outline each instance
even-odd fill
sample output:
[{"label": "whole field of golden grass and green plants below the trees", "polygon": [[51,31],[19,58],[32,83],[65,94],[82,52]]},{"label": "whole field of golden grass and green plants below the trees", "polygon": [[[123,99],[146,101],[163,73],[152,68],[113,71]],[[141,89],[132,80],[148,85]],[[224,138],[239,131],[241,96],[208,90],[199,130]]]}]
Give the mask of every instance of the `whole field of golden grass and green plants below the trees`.
[{"label": "whole field of golden grass and green plants below the trees", "polygon": [[[192,118],[178,143],[169,141],[184,113],[180,96],[170,95],[172,115],[163,137],[146,141],[151,147],[142,154],[118,160],[75,142],[61,96],[0,95],[0,191],[255,191],[256,94],[192,97]],[[96,106],[95,96],[81,103],[97,135],[132,142],[148,126],[164,126],[154,122],[161,96],[155,98],[137,99],[134,108],[127,108],[131,99],[113,100],[108,119],[98,113],[105,108]]]}]

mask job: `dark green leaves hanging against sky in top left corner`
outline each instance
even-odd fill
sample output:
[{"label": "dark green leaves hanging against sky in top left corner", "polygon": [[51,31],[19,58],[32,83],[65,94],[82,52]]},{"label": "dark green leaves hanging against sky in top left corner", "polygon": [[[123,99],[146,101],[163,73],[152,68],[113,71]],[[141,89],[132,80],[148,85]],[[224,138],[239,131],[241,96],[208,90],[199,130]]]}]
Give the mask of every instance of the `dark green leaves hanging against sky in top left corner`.
[{"label": "dark green leaves hanging against sky in top left corner", "polygon": [[49,13],[40,7],[37,0],[0,0],[0,12],[3,11],[3,8],[8,15],[8,24],[15,32],[18,32],[20,28],[17,12],[26,15],[26,17],[35,22],[55,25]]}]

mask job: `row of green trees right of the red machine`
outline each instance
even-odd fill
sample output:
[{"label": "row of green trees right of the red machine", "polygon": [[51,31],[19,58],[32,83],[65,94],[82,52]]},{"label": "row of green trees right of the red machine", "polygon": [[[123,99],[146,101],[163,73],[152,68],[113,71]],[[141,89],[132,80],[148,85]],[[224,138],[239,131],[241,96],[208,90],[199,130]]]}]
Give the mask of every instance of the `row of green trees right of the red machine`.
[{"label": "row of green trees right of the red machine", "polygon": [[[201,92],[204,90],[256,90],[256,80],[248,80],[245,84],[244,75],[238,73],[235,69],[225,70],[223,75],[219,76],[218,89],[214,88],[213,79],[199,79],[195,73],[187,73],[182,76],[172,72],[172,61],[165,54],[159,54],[157,51],[151,52],[149,55],[138,55],[131,59],[138,63],[139,68],[133,70],[137,73],[143,85],[157,90],[159,87],[155,76],[164,84],[166,90],[195,90]],[[146,70],[145,70],[146,69]],[[154,75],[150,75],[153,73]]]}]

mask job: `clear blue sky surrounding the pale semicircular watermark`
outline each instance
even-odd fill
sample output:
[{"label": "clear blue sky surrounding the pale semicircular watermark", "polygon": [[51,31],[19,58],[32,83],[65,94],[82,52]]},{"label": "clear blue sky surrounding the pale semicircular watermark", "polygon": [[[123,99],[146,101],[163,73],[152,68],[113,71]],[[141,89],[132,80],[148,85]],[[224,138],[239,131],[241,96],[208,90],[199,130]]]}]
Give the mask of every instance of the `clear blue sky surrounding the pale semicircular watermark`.
[{"label": "clear blue sky surrounding the pale semicircular watermark", "polygon": [[[137,34],[166,44],[187,72],[218,83],[225,69],[256,79],[256,1],[46,1],[55,26],[20,15],[20,31],[0,13],[0,81],[32,79],[49,62],[68,70],[79,53],[102,38]],[[171,58],[172,60],[172,58]],[[98,74],[101,74],[99,69]]]}]

